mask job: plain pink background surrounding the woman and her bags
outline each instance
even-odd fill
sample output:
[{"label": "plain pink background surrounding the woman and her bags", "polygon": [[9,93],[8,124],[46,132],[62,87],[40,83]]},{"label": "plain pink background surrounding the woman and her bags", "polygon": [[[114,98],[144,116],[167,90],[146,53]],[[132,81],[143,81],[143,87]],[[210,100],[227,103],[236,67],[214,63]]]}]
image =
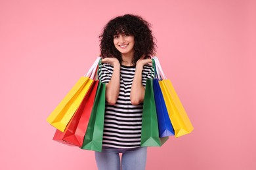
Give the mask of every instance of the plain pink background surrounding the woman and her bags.
[{"label": "plain pink background surrounding the woman and her bags", "polygon": [[0,169],[96,169],[52,141],[47,116],[95,60],[114,16],[152,23],[194,131],[148,149],[146,169],[256,169],[255,1],[0,1]]}]

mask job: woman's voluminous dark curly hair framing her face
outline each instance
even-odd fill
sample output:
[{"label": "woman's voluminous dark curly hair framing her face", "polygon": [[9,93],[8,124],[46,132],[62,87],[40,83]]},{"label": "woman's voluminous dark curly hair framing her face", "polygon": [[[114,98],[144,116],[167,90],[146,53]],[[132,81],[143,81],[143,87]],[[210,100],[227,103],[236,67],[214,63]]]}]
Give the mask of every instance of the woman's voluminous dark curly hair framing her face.
[{"label": "woman's voluminous dark curly hair framing her face", "polygon": [[114,57],[121,63],[121,53],[114,46],[114,35],[124,33],[133,35],[135,39],[133,64],[143,55],[144,58],[151,58],[156,52],[156,42],[150,30],[151,24],[140,16],[125,14],[117,16],[105,25],[100,38],[100,56],[102,58]]}]

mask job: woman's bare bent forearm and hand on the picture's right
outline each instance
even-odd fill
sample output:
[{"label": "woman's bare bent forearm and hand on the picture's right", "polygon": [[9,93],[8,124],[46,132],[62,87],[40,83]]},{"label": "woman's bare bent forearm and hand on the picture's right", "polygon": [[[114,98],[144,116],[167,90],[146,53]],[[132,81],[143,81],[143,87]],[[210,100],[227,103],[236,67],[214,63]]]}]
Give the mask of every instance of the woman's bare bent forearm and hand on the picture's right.
[{"label": "woman's bare bent forearm and hand on the picture's right", "polygon": [[132,105],[139,105],[144,101],[145,88],[142,85],[142,69],[152,59],[139,59],[136,64],[135,76],[131,85],[130,99]]}]

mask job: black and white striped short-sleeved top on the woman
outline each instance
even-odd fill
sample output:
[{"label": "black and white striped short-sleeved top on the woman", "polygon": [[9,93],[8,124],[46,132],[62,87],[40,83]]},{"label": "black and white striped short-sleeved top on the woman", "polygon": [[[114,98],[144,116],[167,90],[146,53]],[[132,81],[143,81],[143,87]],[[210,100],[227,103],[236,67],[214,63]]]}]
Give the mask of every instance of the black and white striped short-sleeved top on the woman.
[{"label": "black and white striped short-sleeved top on the woman", "polygon": [[[103,63],[99,74],[101,82],[110,82],[112,65]],[[135,148],[140,146],[142,107],[132,105],[130,100],[131,84],[135,75],[135,66],[121,65],[120,90],[116,105],[106,103],[104,118],[104,133],[102,146],[114,148]],[[152,66],[144,65],[142,70],[142,84],[146,86],[146,80],[154,77]]]}]

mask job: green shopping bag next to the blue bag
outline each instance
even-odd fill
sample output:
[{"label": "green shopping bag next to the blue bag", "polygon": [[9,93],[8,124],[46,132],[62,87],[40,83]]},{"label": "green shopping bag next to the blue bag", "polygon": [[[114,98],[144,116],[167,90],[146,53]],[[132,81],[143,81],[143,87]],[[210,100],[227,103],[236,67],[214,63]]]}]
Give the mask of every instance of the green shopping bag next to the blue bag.
[{"label": "green shopping bag next to the blue bag", "polygon": [[167,139],[168,137],[159,137],[153,79],[150,78],[146,80],[140,146],[161,146]]}]

